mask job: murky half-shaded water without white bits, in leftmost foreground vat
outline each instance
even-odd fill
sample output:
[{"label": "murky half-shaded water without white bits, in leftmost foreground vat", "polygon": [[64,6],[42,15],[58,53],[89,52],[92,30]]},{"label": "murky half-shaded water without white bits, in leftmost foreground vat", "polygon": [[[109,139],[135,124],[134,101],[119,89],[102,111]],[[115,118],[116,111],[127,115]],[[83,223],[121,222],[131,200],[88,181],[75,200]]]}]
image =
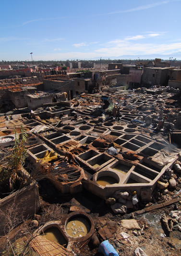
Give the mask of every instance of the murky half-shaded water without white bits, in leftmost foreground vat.
[{"label": "murky half-shaded water without white bits, in leftmost foreground vat", "polygon": [[54,241],[61,245],[67,245],[67,241],[58,228],[50,228],[44,231],[44,236],[50,241]]}]

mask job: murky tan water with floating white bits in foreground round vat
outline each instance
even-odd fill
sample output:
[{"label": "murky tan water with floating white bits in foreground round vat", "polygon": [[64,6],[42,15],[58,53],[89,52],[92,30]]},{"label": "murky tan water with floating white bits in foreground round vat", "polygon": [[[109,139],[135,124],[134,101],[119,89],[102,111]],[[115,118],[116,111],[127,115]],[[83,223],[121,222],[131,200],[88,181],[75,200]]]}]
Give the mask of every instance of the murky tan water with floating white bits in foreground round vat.
[{"label": "murky tan water with floating white bits in foreground round vat", "polygon": [[90,230],[90,225],[85,218],[73,218],[67,223],[66,232],[72,237],[82,237]]}]

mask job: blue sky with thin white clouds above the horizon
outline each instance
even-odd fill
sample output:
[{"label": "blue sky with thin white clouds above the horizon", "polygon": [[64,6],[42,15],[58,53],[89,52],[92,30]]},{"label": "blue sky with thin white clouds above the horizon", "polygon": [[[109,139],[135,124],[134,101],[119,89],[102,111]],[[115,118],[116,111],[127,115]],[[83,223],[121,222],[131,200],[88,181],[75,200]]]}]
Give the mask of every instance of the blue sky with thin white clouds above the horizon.
[{"label": "blue sky with thin white clouds above the horizon", "polygon": [[181,52],[181,0],[9,0],[0,7],[0,61],[31,60],[31,52],[56,61]]}]

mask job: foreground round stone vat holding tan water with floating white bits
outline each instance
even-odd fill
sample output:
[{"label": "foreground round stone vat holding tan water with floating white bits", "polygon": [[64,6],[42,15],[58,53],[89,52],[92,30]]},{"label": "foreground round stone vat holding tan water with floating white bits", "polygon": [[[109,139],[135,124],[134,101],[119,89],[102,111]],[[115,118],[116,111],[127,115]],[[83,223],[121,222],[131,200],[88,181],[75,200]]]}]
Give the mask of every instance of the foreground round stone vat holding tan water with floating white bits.
[{"label": "foreground round stone vat holding tan water with floating white bits", "polygon": [[69,240],[76,242],[86,241],[93,235],[94,222],[84,212],[73,212],[65,220],[65,231]]}]

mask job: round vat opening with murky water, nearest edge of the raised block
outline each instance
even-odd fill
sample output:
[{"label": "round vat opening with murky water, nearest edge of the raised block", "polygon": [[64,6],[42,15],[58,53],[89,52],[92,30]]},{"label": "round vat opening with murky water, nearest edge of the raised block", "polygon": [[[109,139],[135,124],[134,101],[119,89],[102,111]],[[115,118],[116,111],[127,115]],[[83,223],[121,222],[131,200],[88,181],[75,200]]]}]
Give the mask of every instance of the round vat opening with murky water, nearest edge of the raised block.
[{"label": "round vat opening with murky water, nearest edge of the raised block", "polygon": [[97,173],[95,180],[98,185],[106,187],[106,185],[118,184],[120,182],[119,176],[111,171],[102,171]]}]

